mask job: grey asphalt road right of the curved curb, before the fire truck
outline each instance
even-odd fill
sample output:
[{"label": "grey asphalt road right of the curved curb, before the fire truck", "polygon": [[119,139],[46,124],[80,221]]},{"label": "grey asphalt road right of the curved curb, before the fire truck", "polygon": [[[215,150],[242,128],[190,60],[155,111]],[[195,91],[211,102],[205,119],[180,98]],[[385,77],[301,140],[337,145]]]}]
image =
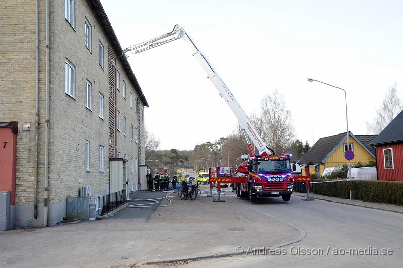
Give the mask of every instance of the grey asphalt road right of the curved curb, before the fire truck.
[{"label": "grey asphalt road right of the curved curb, before the fire truck", "polygon": [[[401,267],[403,261],[403,214],[315,200],[304,202],[293,195],[290,202],[281,198],[261,198],[258,203],[225,197],[240,209],[271,215],[306,231],[306,237],[277,252],[264,249],[247,256],[196,261],[185,266],[251,267]],[[282,228],[262,226],[262,228]],[[258,230],[256,230],[258,231]],[[251,245],[253,246],[253,245]],[[375,250],[386,255],[375,255]],[[244,252],[250,250],[243,249]],[[363,251],[360,251],[363,250]],[[388,250],[388,251],[387,251]],[[369,255],[370,252],[372,255]]]}]

